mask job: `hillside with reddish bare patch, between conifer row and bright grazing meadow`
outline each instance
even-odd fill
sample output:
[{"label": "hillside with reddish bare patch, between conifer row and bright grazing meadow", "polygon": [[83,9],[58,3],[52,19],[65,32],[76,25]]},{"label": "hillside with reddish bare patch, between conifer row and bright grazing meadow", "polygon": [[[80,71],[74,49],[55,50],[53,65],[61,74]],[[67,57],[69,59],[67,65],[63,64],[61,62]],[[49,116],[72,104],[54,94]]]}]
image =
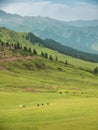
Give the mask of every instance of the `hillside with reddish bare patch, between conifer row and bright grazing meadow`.
[{"label": "hillside with reddish bare patch, between conifer row and bright grazing meadow", "polygon": [[[65,88],[73,89],[74,85],[78,85],[76,88],[79,89],[85,87],[85,90],[88,89],[88,85],[98,85],[98,77],[95,77],[93,72],[97,64],[78,59],[75,59],[75,64],[69,60],[64,63],[55,60],[54,57],[51,60],[38,55],[23,55],[23,52],[24,50],[13,48],[13,45],[2,45],[0,42],[0,90],[58,92]],[[53,53],[51,50],[51,55]],[[78,66],[78,62],[87,64],[87,67],[85,64],[82,67]]]}]

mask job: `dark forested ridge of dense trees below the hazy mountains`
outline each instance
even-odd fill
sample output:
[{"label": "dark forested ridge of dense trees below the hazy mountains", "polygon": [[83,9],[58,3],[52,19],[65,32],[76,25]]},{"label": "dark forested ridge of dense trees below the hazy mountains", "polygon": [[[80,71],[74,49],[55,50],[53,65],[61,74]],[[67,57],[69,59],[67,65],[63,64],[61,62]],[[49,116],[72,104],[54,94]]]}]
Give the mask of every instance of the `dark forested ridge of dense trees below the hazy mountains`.
[{"label": "dark forested ridge of dense trees below the hazy mountains", "polygon": [[64,55],[69,55],[71,57],[75,57],[75,58],[82,59],[85,61],[98,62],[98,54],[90,54],[87,52],[82,52],[82,51],[73,49],[71,47],[62,45],[52,39],[43,40],[30,32],[27,34],[26,39],[32,42],[32,44],[40,43],[44,47],[50,48],[52,50],[56,50]]}]

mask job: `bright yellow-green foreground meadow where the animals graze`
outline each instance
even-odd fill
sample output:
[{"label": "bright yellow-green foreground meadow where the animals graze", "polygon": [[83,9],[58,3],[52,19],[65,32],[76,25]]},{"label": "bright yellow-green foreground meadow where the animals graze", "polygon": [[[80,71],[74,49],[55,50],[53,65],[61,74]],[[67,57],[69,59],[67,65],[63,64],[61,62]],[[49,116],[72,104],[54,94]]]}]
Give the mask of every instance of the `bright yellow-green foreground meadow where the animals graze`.
[{"label": "bright yellow-green foreground meadow where the animals graze", "polygon": [[89,94],[0,92],[1,130],[97,130],[97,119],[98,98]]}]

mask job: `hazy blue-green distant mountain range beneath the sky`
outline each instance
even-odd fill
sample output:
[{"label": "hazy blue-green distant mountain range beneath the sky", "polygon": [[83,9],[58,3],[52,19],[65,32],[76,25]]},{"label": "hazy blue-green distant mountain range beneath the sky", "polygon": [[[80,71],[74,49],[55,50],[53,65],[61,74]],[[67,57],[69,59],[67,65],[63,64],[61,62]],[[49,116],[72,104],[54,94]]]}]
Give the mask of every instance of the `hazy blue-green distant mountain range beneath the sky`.
[{"label": "hazy blue-green distant mountain range beneath the sky", "polygon": [[98,54],[98,20],[64,22],[48,17],[29,17],[0,11],[0,26],[32,32],[42,39],[53,39],[63,45]]}]

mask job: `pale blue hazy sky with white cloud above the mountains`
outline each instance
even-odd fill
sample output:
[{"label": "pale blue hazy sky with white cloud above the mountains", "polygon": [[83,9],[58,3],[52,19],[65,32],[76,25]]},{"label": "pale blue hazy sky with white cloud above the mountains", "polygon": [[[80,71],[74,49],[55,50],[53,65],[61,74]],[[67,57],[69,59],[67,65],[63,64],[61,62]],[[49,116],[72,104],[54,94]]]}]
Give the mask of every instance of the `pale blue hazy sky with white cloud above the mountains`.
[{"label": "pale blue hazy sky with white cloud above the mountains", "polygon": [[0,9],[22,16],[48,16],[63,21],[98,19],[98,0],[0,0]]}]

